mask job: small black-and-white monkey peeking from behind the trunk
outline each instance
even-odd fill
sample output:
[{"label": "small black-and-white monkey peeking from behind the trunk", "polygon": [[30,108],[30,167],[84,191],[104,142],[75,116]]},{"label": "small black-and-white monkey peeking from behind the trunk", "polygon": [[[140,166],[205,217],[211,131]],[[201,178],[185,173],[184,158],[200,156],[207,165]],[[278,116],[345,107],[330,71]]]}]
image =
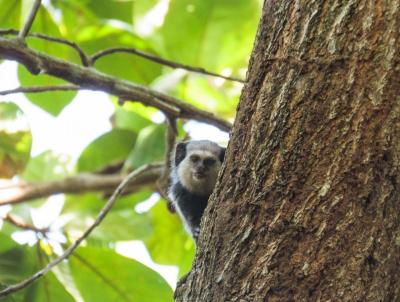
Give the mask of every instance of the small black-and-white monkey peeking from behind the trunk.
[{"label": "small black-and-white monkey peeking from behind the trunk", "polygon": [[172,152],[168,196],[196,243],[224,156],[225,148],[209,140],[179,142]]}]

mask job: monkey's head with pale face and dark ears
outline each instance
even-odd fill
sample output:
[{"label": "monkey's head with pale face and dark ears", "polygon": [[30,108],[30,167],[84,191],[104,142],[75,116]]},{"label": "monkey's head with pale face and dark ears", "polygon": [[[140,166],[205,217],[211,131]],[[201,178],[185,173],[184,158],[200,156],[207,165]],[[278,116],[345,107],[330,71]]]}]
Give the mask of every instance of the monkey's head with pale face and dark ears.
[{"label": "monkey's head with pale face and dark ears", "polygon": [[174,164],[181,184],[190,192],[210,195],[217,181],[225,148],[202,140],[176,145]]}]

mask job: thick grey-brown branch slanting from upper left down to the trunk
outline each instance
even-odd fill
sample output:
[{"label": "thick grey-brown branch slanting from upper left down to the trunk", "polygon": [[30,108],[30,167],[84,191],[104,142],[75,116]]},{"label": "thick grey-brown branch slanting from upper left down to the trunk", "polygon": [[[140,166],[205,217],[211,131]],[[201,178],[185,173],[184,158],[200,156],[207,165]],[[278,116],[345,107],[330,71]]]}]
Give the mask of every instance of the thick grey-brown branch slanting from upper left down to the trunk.
[{"label": "thick grey-brown branch slanting from upper left down to the trunk", "polygon": [[232,126],[214,114],[197,109],[174,97],[106,75],[93,68],[48,56],[21,45],[17,40],[0,38],[0,55],[23,64],[33,74],[46,73],[84,89],[104,91],[126,100],[139,101],[144,105],[156,107],[174,118],[194,119],[214,125],[223,131],[229,131]]}]

